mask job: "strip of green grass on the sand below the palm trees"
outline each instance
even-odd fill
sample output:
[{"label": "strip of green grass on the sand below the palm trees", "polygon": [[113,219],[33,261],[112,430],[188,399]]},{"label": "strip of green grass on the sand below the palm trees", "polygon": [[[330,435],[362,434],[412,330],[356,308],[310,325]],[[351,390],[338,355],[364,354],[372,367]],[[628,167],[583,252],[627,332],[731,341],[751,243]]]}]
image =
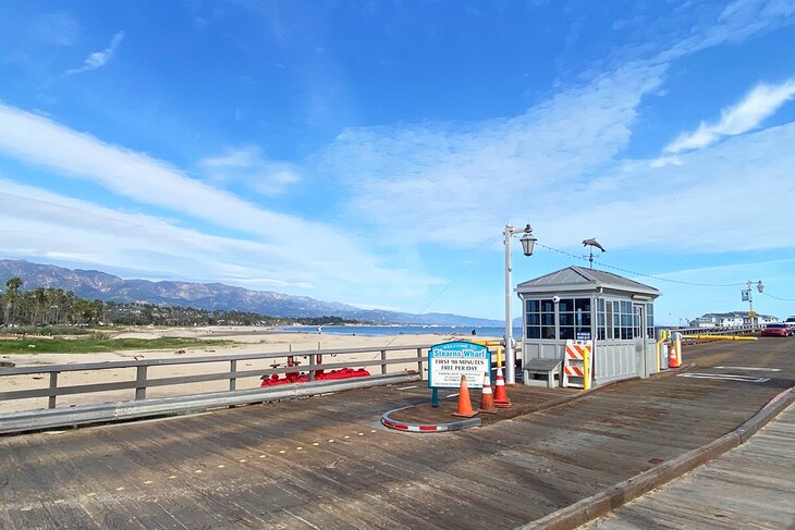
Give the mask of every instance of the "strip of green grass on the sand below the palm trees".
[{"label": "strip of green grass on the sand below the palm trees", "polygon": [[225,346],[232,341],[199,341],[196,338],[13,338],[0,341],[0,354],[98,354],[126,349],[185,349]]}]

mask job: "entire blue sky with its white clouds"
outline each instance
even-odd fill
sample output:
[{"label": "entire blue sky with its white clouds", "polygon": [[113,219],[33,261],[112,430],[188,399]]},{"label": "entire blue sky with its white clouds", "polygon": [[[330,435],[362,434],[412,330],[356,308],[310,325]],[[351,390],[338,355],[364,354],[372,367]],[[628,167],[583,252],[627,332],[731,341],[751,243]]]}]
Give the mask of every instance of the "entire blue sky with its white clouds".
[{"label": "entire blue sky with its white clouds", "polygon": [[1,11],[2,258],[500,319],[530,223],[515,283],[795,315],[793,1]]}]

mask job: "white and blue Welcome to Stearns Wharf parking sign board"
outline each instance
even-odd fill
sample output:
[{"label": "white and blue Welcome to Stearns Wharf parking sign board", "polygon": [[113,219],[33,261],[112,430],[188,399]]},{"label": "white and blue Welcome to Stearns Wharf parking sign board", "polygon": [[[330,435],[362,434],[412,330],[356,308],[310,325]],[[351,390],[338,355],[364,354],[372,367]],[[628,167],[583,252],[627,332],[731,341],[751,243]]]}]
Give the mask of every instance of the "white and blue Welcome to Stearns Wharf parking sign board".
[{"label": "white and blue Welcome to Stearns Wharf parking sign board", "polygon": [[432,346],[428,353],[428,387],[457,389],[461,377],[469,389],[480,389],[490,373],[491,353],[486,346],[456,341]]}]

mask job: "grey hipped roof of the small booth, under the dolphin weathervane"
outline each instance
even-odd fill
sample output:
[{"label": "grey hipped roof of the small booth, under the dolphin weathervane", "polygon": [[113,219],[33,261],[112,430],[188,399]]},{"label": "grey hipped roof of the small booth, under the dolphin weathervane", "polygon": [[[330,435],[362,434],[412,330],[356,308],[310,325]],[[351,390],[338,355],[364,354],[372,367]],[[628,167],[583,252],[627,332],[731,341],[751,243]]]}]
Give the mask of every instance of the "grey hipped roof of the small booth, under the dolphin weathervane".
[{"label": "grey hipped roof of the small booth, under the dolphin weathervane", "polygon": [[555,293],[567,291],[596,291],[599,287],[610,291],[621,291],[629,294],[648,295],[652,298],[660,296],[660,291],[643,283],[613,274],[612,272],[586,269],[585,267],[566,267],[543,276],[522,282],[516,292]]}]

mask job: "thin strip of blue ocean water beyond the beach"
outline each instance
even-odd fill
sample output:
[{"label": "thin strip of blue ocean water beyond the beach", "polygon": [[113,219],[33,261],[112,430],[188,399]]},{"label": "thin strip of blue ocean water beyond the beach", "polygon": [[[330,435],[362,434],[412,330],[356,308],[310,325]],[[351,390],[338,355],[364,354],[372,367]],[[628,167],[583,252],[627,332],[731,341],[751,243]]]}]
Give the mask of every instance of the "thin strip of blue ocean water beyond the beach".
[{"label": "thin strip of blue ocean water beyond the beach", "polygon": [[[274,331],[295,332],[295,333],[317,333],[315,325],[285,325],[276,328]],[[491,336],[502,337],[505,334],[505,328],[491,326],[452,326],[452,325],[323,325],[321,333],[329,335],[365,335],[365,336],[382,336],[382,335],[441,335],[441,336]],[[522,329],[514,328],[514,338],[522,336]]]}]

